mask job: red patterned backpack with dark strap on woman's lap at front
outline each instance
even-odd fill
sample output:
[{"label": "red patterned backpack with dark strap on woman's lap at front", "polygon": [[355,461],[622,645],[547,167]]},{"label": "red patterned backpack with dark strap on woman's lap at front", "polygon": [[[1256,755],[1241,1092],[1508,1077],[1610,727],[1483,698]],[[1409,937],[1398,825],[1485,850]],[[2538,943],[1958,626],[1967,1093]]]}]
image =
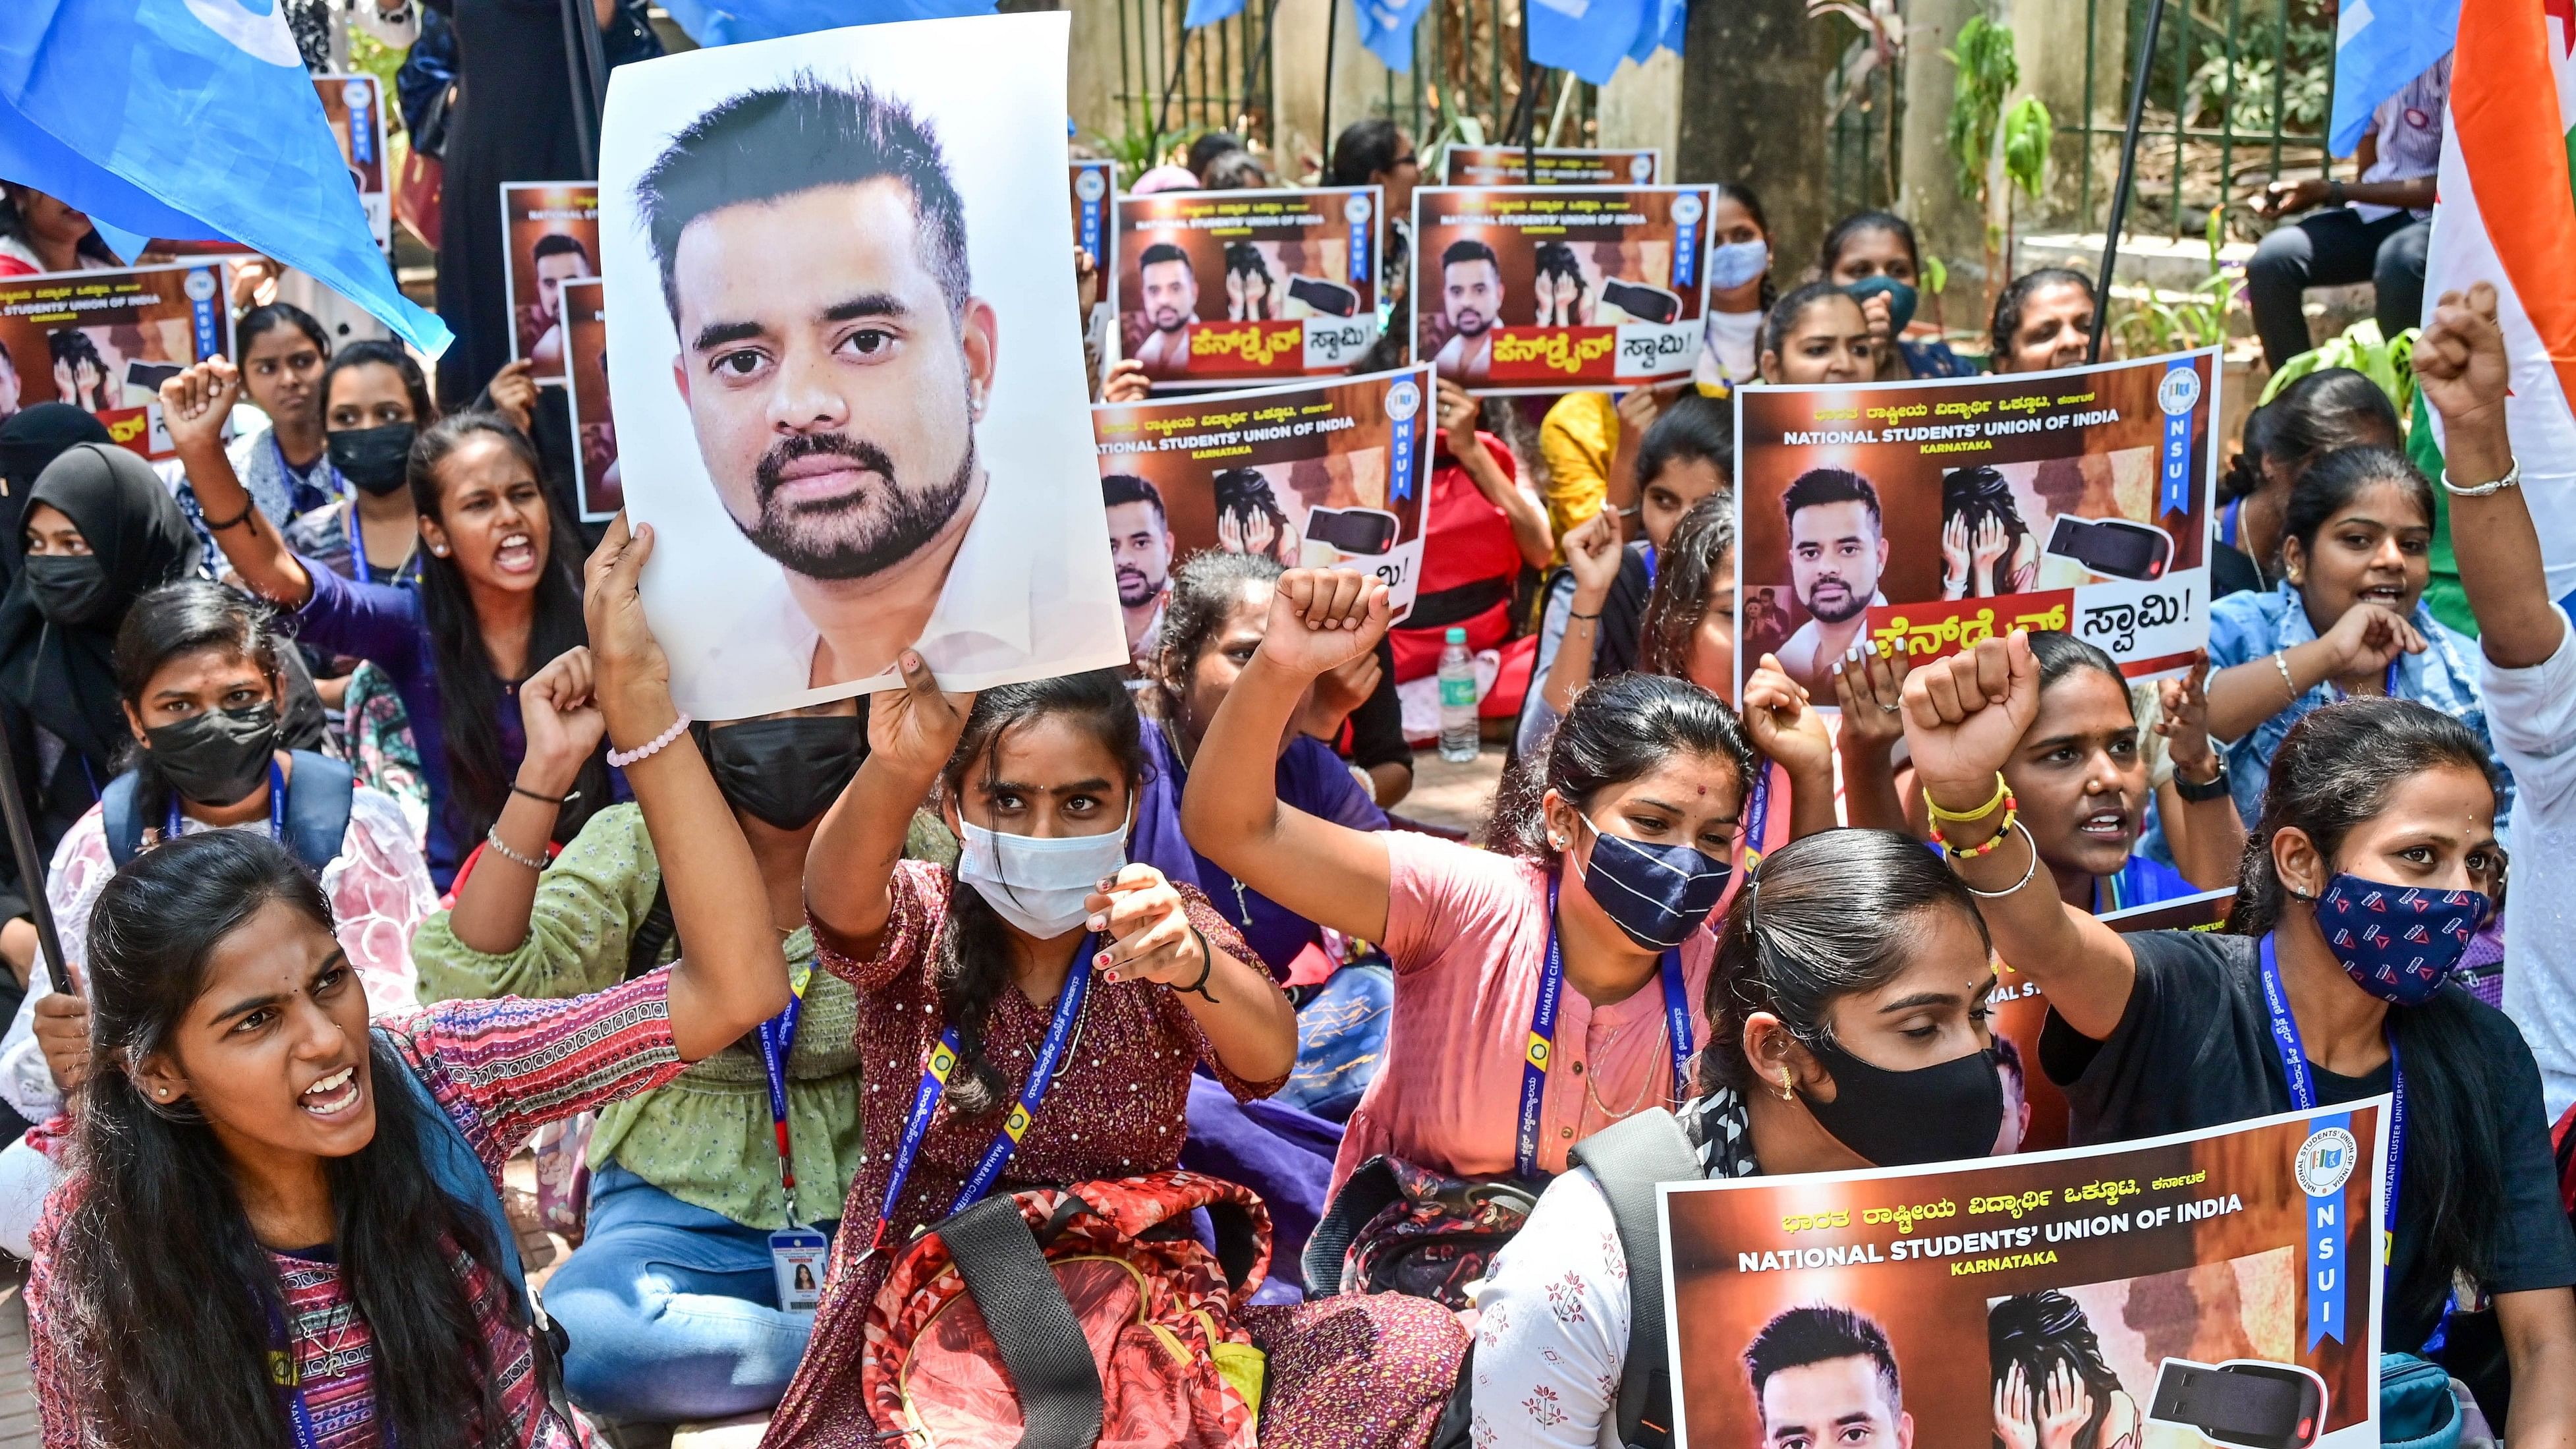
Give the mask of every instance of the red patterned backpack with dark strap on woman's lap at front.
[{"label": "red patterned backpack with dark strap on woman's lap at front", "polygon": [[914,1449],[1252,1449],[1267,1269],[1260,1196],[1198,1173],[989,1196],[894,1258],[860,1387]]}]

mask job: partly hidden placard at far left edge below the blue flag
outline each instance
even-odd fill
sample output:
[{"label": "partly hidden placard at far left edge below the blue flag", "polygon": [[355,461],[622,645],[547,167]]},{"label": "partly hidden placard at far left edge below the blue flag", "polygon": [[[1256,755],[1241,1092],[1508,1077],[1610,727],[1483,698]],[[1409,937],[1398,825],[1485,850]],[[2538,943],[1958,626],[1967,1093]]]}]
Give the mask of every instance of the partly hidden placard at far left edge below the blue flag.
[{"label": "partly hidden placard at far left edge below the blue flag", "polygon": [[173,456],[160,384],[232,356],[224,281],[216,260],[0,278],[0,423],[70,402],[137,454]]}]

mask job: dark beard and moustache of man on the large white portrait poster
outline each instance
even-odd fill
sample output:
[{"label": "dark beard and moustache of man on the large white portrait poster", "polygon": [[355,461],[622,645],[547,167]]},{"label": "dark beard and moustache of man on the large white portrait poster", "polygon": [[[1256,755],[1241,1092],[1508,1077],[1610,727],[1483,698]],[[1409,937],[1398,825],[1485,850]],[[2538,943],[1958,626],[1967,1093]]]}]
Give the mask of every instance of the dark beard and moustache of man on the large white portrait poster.
[{"label": "dark beard and moustache of man on the large white portrait poster", "polygon": [[[796,459],[822,454],[845,456],[884,482],[863,485],[829,503],[781,505],[778,487],[786,482],[778,477],[781,469]],[[927,490],[904,487],[894,477],[894,459],[866,438],[848,433],[783,438],[760,456],[760,467],[755,469],[760,521],[744,526],[742,536],[762,554],[806,578],[871,578],[917,554],[956,518],[958,503],[974,485],[974,464],[971,428],[966,433],[966,456],[958,459],[956,474]],[[845,518],[848,526],[842,523]]]}]

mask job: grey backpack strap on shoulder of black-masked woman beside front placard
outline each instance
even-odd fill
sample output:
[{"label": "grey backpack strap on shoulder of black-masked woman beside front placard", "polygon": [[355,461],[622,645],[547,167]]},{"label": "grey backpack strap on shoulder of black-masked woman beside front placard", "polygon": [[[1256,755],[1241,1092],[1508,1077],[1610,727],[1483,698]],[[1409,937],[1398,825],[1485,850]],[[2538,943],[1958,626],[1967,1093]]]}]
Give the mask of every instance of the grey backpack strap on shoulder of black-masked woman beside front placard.
[{"label": "grey backpack strap on shoulder of black-masked woman beside front placard", "polygon": [[1618,1441],[1664,1444],[1672,1436],[1672,1372],[1664,1348],[1664,1227],[1656,1183],[1692,1183],[1705,1168],[1682,1124],[1664,1109],[1638,1111],[1584,1137],[1566,1155],[1589,1168],[1610,1201],[1618,1250],[1628,1258],[1628,1354],[1618,1374]]}]

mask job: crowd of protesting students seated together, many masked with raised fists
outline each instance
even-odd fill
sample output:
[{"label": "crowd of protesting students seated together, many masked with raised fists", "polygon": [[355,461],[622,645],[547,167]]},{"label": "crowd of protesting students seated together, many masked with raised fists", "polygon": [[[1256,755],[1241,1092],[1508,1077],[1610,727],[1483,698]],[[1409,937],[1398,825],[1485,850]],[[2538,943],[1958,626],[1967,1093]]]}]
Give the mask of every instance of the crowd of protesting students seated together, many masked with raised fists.
[{"label": "crowd of protesting students seated together, many masked with raised fists", "polygon": [[[1211,137],[1133,191],[1273,173]],[[1363,121],[1324,180],[1404,217],[1419,178]],[[13,188],[8,217],[85,266],[62,211]],[[1728,183],[1708,245],[1692,379],[1517,428],[1440,384],[1401,627],[1358,572],[1206,552],[1164,559],[1128,670],[951,694],[907,652],[896,691],[752,719],[675,709],[652,531],[585,541],[523,364],[443,410],[399,345],[273,302],[162,389],[170,469],[15,413],[0,722],[49,869],[0,861],[0,1245],[33,1261],[44,1441],[760,1413],[768,1444],[886,1441],[907,1243],[989,1194],[1180,1173],[1273,1232],[1257,1292],[1200,1284],[1226,1315],[1188,1369],[1260,1441],[1631,1444],[1662,1413],[1628,1361],[1654,1269],[1589,1165],[1620,1124],[1669,1114],[1700,1178],[1984,1158],[2045,1073],[2074,1142],[2403,1091],[2380,1346],[2447,1341],[2506,1441],[2576,1446],[2576,959],[2545,905],[2576,642],[2512,487],[2494,297],[2437,299],[2414,345],[2439,485],[2362,374],[2251,415],[2182,678],[2053,632],[1739,660],[1731,389],[2071,366],[2102,299],[2012,278],[1973,361],[1911,327],[1899,217],[1790,258]],[[2427,606],[2437,487],[2476,637]],[[1819,503],[1880,529],[1865,485]],[[1950,552],[1958,588],[2012,590],[2009,547]],[[1399,812],[1388,696],[1453,627],[1507,673],[1473,841]],[[2442,895],[2460,957],[2391,982],[2342,944],[2375,884]],[[2097,920],[2210,890],[2228,933]],[[2045,987],[2040,1060],[1989,1026],[1991,959]],[[474,1209],[531,1140],[574,1243],[536,1294]],[[773,1276],[799,1232],[827,1243],[809,1307]],[[1886,1354],[1829,1328],[1819,1356]],[[2027,1434],[2040,1390],[1996,1405]],[[1834,1444],[1904,1444],[1883,1408]],[[2063,1444],[2136,1444],[2112,1408]]]}]

